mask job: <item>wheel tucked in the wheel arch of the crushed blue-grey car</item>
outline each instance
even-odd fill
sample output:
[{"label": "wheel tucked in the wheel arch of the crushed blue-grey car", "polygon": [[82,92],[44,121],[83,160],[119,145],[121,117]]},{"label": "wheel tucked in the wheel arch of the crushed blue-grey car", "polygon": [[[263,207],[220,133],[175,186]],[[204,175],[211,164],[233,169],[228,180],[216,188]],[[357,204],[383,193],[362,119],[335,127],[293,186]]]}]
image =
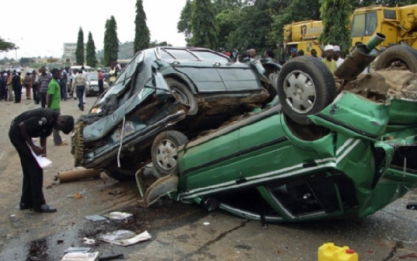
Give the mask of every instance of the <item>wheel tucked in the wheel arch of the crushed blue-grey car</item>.
[{"label": "wheel tucked in the wheel arch of the crushed blue-grey car", "polygon": [[176,79],[166,78],[167,85],[174,96],[183,104],[190,106],[188,115],[195,115],[198,111],[198,103],[190,88]]}]

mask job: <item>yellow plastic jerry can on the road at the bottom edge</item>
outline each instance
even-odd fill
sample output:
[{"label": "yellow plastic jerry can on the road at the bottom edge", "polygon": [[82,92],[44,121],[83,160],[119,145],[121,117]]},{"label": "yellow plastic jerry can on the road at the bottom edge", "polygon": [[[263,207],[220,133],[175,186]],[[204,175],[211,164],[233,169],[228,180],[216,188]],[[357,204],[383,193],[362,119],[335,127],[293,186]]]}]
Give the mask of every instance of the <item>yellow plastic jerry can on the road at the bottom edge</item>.
[{"label": "yellow plastic jerry can on the road at the bottom edge", "polygon": [[349,246],[325,243],[318,248],[318,261],[359,261],[359,255]]}]

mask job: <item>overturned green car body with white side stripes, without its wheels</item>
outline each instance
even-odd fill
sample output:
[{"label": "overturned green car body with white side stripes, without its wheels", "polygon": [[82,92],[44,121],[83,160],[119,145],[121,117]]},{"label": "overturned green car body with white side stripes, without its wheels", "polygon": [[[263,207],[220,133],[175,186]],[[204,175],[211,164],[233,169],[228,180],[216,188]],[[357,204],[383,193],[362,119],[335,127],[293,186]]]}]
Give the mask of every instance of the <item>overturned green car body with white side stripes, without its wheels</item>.
[{"label": "overturned green car body with white side stripes, without its wheels", "polygon": [[368,216],[416,187],[416,126],[391,128],[389,104],[342,93],[310,116],[327,129],[312,140],[277,108],[184,146],[170,196],[280,222]]}]

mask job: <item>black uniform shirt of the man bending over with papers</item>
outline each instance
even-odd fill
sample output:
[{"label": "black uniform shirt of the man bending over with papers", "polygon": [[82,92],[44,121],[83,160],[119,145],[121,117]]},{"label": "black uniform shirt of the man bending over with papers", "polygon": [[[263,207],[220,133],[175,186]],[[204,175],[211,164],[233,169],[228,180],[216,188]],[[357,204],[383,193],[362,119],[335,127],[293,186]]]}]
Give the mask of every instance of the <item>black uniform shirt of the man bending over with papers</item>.
[{"label": "black uniform shirt of the man bending over with papers", "polygon": [[47,137],[51,135],[58,115],[58,111],[51,109],[34,109],[17,116],[13,121],[13,126],[17,127],[24,122],[28,135],[32,138]]}]

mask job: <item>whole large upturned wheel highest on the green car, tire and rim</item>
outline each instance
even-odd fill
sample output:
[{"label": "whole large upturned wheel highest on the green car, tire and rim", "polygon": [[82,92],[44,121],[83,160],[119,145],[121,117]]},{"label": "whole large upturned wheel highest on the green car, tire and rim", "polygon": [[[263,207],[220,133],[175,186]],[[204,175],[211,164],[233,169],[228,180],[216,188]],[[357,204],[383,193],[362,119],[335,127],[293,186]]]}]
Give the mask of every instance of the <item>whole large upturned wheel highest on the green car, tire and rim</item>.
[{"label": "whole large upturned wheel highest on the green car, tire and rim", "polygon": [[300,56],[281,68],[278,97],[282,110],[295,122],[310,125],[307,116],[316,114],[336,97],[332,72],[317,58]]}]

